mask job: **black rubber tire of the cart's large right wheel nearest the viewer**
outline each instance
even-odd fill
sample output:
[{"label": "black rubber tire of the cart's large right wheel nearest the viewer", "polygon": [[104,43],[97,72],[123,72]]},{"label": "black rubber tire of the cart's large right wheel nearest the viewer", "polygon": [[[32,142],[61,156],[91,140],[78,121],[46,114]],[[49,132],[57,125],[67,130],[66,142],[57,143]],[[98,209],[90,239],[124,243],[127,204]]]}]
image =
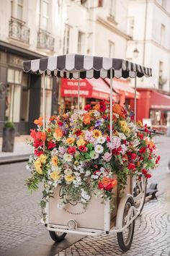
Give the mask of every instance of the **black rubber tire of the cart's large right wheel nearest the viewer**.
[{"label": "black rubber tire of the cart's large right wheel nearest the viewer", "polygon": [[[130,205],[135,206],[133,198],[131,198],[131,197],[128,198],[125,205],[127,205],[129,203],[130,203]],[[125,209],[124,209],[124,213],[123,213],[123,218],[124,218],[124,214],[125,214]],[[123,219],[122,219],[122,222],[123,222]],[[129,239],[128,244],[125,244],[123,233],[122,232],[117,233],[117,241],[118,241],[118,244],[120,246],[120,249],[122,249],[123,252],[127,252],[128,249],[130,249],[131,244],[133,242],[133,234],[134,234],[134,229],[135,229],[135,220],[130,225],[133,225],[133,226],[132,226],[132,231],[131,231],[131,234],[130,234],[130,239]]]}]

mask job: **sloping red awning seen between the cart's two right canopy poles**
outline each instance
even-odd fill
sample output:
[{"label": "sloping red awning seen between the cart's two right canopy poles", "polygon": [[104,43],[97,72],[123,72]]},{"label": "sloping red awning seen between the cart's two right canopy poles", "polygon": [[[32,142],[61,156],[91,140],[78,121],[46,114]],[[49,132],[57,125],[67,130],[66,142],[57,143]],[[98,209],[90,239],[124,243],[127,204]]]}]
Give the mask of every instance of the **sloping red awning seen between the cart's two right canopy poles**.
[{"label": "sloping red awning seen between the cart's two right canopy poles", "polygon": [[[108,85],[110,84],[109,78],[105,78]],[[125,94],[125,98],[135,98],[135,90],[129,85],[127,80],[113,79],[113,90],[116,93],[122,95]],[[140,93],[136,92],[136,98],[140,98]]]}]

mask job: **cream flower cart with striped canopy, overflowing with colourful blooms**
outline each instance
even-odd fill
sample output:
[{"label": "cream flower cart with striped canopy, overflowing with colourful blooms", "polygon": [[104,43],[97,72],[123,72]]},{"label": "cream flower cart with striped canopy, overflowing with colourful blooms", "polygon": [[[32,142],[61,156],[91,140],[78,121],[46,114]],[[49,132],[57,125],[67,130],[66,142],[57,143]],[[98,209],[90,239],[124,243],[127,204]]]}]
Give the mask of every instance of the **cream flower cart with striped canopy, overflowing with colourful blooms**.
[{"label": "cream flower cart with striped canopy, overflowing with colourful blooms", "polygon": [[[120,248],[127,251],[135,218],[143,208],[149,169],[158,164],[158,158],[148,131],[139,132],[129,110],[112,102],[113,77],[135,78],[136,93],[136,78],[151,77],[151,69],[122,59],[76,54],[23,65],[24,72],[43,75],[43,117],[35,120],[37,131],[31,131],[35,155],[27,166],[32,174],[28,189],[44,183],[42,223],[54,241],[67,233],[117,233]],[[79,82],[108,77],[110,99],[81,110],[78,83],[76,108],[45,120],[45,75]]]}]

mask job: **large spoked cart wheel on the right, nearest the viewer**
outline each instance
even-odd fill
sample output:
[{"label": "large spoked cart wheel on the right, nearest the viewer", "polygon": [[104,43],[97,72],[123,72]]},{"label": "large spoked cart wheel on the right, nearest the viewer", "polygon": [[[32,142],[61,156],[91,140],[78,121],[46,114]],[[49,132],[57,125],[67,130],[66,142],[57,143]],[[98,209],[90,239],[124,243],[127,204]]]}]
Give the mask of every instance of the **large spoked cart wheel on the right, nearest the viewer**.
[{"label": "large spoked cart wheel on the right, nearest the viewer", "polygon": [[[128,212],[131,206],[135,206],[132,197],[128,197],[128,200],[125,202],[125,208],[122,214],[122,227],[126,225],[128,222]],[[134,216],[134,210],[130,213],[130,219]],[[119,227],[119,226],[118,226]],[[130,225],[122,232],[117,233],[117,241],[123,252],[127,252],[130,249],[131,244],[133,242],[133,234],[135,229],[135,220],[130,223]]]}]

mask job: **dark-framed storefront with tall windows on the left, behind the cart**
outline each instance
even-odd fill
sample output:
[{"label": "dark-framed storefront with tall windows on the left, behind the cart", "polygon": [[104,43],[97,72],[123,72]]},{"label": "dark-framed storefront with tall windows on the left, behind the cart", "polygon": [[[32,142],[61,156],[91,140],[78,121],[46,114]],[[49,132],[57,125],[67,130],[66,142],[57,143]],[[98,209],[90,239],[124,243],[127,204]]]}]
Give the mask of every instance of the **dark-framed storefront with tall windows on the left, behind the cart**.
[{"label": "dark-framed storefront with tall windows on the left, behind the cart", "polygon": [[[22,72],[22,61],[35,58],[42,56],[0,42],[0,135],[5,121],[14,122],[16,135],[29,134],[30,128],[34,127],[33,121],[42,115],[42,78]],[[50,77],[45,79],[46,115],[50,116],[58,99],[58,95],[53,97],[57,91],[56,80]]]}]

